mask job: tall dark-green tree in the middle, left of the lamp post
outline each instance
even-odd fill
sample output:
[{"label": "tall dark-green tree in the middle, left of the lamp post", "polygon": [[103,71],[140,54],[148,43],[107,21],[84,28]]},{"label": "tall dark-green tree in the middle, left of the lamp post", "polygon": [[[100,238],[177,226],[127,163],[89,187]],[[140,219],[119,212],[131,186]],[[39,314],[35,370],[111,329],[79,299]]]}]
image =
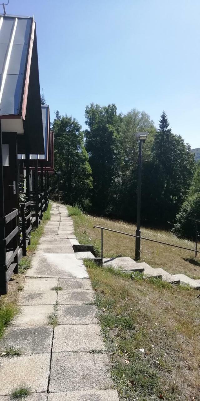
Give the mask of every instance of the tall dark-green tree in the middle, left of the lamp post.
[{"label": "tall dark-green tree in the middle, left of the lamp post", "polygon": [[93,211],[108,215],[114,213],[120,185],[122,118],[115,104],[101,107],[94,103],[86,106],[85,117],[89,128],[84,134],[92,168]]}]

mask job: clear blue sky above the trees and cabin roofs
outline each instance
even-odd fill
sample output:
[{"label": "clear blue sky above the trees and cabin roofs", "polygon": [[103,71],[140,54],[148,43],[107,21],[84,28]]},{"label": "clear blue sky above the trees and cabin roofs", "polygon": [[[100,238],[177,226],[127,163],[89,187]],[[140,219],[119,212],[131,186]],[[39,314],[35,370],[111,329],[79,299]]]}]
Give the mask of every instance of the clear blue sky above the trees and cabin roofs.
[{"label": "clear blue sky above the trees and cabin roofs", "polygon": [[199,0],[10,0],[34,14],[40,87],[54,111],[84,126],[85,106],[136,107],[200,146]]}]

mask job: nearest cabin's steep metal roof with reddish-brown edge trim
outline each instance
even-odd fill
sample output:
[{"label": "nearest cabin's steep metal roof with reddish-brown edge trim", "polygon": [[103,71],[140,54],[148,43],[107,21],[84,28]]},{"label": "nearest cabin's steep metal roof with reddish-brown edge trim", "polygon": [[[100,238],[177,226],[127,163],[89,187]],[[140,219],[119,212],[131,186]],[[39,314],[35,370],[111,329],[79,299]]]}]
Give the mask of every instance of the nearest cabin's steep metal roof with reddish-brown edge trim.
[{"label": "nearest cabin's steep metal roof with reddish-brown edge trim", "polygon": [[[44,153],[33,17],[0,16],[0,119],[2,131],[26,134],[26,148]],[[23,142],[20,138],[21,150]]]}]

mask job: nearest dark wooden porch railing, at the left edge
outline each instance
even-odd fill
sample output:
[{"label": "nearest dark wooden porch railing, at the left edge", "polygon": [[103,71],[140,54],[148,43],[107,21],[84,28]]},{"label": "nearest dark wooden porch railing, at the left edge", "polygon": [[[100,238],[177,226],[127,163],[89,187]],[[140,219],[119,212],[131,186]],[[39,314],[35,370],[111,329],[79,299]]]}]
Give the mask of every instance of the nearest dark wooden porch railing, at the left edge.
[{"label": "nearest dark wooden porch railing, at the left edge", "polygon": [[0,295],[3,295],[8,292],[8,282],[12,274],[18,273],[18,209],[0,217],[0,225]]}]

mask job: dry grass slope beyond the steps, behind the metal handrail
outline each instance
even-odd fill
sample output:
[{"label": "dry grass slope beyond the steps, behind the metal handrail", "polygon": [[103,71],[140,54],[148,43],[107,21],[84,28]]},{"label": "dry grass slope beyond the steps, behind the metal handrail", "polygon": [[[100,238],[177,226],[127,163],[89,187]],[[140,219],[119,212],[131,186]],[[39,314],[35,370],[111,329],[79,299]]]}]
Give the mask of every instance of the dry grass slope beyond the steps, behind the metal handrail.
[{"label": "dry grass slope beyond the steps, behind the metal handrail", "polygon": [[[70,207],[68,207],[68,210]],[[100,229],[94,225],[135,234],[136,226],[123,221],[113,221],[90,215],[72,216],[75,235],[80,243],[92,243],[100,249]],[[172,243],[194,249],[192,241],[178,239],[168,231],[141,228],[141,235],[150,239]],[[200,247],[198,246],[198,250]],[[104,257],[130,256],[135,257],[135,239],[126,235],[104,231]],[[162,267],[172,274],[183,273],[191,278],[200,278],[200,256],[194,259],[194,252],[141,240],[141,260],[152,267]]]}]

